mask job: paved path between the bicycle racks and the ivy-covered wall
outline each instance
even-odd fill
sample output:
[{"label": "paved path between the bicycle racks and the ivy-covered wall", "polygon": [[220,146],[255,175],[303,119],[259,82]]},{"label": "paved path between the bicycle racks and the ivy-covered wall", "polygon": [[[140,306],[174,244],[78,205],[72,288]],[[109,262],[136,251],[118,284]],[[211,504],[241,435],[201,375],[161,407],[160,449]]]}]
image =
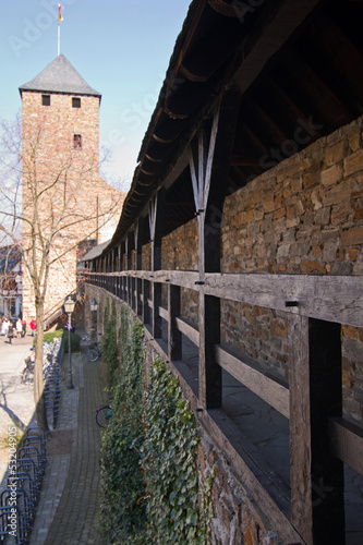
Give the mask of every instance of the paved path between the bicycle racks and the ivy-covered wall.
[{"label": "paved path between the bicycle racks and the ivy-covered wall", "polygon": [[101,545],[98,533],[100,427],[96,409],[106,402],[100,362],[72,355],[74,389],[66,378],[57,429],[48,443],[48,463],[29,545]]}]

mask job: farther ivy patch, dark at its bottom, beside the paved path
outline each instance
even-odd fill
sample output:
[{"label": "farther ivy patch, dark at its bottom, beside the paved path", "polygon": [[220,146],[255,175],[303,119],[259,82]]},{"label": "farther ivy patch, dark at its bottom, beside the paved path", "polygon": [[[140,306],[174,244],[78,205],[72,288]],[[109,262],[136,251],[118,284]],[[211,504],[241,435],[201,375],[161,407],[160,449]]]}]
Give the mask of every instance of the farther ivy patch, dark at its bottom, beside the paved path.
[{"label": "farther ivy patch, dark at its bottom, beside the paved path", "polygon": [[[124,341],[126,338],[124,339]],[[140,467],[143,436],[145,346],[142,326],[135,322],[123,344],[117,380],[110,385],[112,421],[102,435],[100,519],[109,544],[122,543],[145,526],[145,483]]]}]

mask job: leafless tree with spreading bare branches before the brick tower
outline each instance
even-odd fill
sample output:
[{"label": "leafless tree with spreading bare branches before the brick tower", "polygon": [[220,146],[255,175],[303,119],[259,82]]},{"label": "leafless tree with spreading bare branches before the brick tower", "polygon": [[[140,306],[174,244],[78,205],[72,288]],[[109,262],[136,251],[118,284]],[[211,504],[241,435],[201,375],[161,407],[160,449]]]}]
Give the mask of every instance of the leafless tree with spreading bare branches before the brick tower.
[{"label": "leafless tree with spreading bare branches before the brick tower", "polygon": [[[53,143],[52,147],[49,143]],[[47,428],[44,405],[43,343],[49,279],[57,263],[70,271],[68,256],[119,217],[123,194],[99,177],[98,154],[82,143],[64,145],[46,119],[21,129],[2,122],[0,152],[0,232],[22,254],[23,275],[34,298],[37,335],[34,398],[38,425]],[[81,147],[81,149],[80,149]],[[75,286],[75,266],[74,266]]]}]

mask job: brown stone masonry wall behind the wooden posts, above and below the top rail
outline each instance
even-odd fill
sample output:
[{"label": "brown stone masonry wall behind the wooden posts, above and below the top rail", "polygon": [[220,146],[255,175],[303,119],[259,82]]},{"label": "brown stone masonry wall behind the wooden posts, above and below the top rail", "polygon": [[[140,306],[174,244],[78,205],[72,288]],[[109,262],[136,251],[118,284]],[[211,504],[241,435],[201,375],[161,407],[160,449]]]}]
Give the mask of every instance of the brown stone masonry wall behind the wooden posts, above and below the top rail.
[{"label": "brown stone masonry wall behind the wooden posts, above and below the top rail", "polygon": [[[363,274],[363,118],[320,138],[226,198],[221,271]],[[164,268],[195,270],[197,222],[162,241]],[[182,315],[197,324],[196,292]],[[289,377],[289,320],[283,312],[223,300],[221,340]],[[342,327],[346,415],[362,421],[363,330]]]}]

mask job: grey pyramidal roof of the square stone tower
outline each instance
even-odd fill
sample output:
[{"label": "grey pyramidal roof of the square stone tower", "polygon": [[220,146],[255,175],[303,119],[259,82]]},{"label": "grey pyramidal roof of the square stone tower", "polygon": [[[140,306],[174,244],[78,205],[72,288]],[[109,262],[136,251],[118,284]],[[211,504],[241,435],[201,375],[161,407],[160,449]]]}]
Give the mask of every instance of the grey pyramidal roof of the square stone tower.
[{"label": "grey pyramidal roof of the square stone tower", "polygon": [[19,90],[21,94],[23,90],[37,90],[101,97],[98,90],[83,80],[64,55],[59,55],[34,80],[19,87]]}]

